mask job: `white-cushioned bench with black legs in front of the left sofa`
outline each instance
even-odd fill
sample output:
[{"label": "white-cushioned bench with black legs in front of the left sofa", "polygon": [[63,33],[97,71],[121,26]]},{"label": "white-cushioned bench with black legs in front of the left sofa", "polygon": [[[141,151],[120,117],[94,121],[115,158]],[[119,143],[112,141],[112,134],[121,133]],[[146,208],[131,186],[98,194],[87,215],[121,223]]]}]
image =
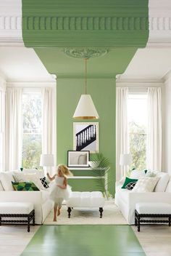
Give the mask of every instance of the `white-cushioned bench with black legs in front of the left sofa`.
[{"label": "white-cushioned bench with black legs in front of the left sofa", "polygon": [[[20,218],[25,218],[21,220]],[[2,220],[3,218],[3,220]],[[13,219],[14,218],[14,219]],[[35,210],[32,203],[3,202],[0,203],[0,225],[1,223],[27,223],[30,232],[30,221],[35,225]]]}]

